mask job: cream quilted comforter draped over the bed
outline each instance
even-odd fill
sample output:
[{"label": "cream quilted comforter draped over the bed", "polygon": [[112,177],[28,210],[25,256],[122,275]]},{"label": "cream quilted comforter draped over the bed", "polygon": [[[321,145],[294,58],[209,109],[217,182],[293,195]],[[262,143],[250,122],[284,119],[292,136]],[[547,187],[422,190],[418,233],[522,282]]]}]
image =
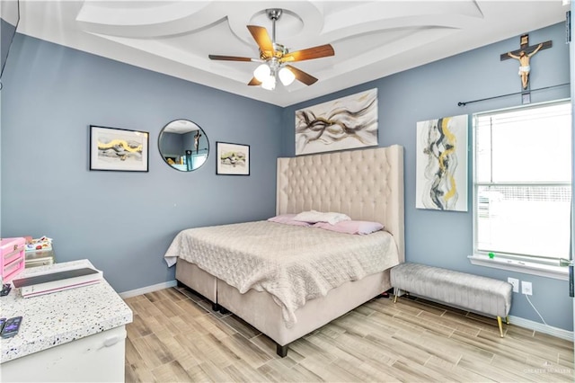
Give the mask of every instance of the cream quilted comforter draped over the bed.
[{"label": "cream quilted comforter draped over the bed", "polygon": [[164,257],[168,266],[177,257],[195,263],[241,293],[269,292],[288,328],[307,300],[399,263],[385,231],[355,236],[269,221],[182,230]]}]

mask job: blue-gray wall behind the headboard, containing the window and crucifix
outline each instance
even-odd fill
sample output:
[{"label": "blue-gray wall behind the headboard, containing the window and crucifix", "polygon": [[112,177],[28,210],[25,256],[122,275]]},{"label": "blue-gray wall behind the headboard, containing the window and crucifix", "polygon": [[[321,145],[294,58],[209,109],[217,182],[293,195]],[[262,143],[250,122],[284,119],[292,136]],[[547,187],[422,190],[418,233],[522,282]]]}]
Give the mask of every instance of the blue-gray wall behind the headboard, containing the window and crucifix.
[{"label": "blue-gray wall behind the headboard, containing the window and crucifix", "polygon": [[[532,59],[531,89],[567,84],[546,91],[533,92],[531,102],[570,97],[569,46],[565,44],[565,25],[553,25],[529,32],[531,44],[553,40],[552,49],[538,52]],[[572,330],[573,311],[567,281],[534,275],[506,272],[472,265],[467,256],[473,253],[472,156],[469,156],[469,211],[447,212],[415,209],[416,124],[420,120],[472,114],[521,105],[521,96],[502,97],[460,107],[457,102],[473,101],[521,91],[517,76],[518,62],[500,61],[500,54],[519,48],[519,37],[503,40],[481,49],[416,67],[310,102],[302,102],[283,111],[282,156],[294,156],[295,111],[377,88],[379,111],[379,146],[400,144],[405,148],[405,247],[406,260],[447,267],[461,272],[490,276],[503,281],[508,277],[533,282],[531,301],[548,325]],[[472,129],[469,132],[472,147]],[[471,153],[471,152],[470,152]],[[513,294],[511,316],[541,322],[525,296]]]}]

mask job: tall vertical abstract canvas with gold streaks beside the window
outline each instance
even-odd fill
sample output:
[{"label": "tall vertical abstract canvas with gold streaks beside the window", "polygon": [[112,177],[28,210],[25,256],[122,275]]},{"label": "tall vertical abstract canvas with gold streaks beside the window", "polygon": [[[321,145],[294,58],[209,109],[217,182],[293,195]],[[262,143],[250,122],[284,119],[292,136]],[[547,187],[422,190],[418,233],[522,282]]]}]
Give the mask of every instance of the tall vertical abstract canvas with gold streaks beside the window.
[{"label": "tall vertical abstract canvas with gold streaks beside the window", "polygon": [[415,207],[467,211],[467,115],[417,123]]}]

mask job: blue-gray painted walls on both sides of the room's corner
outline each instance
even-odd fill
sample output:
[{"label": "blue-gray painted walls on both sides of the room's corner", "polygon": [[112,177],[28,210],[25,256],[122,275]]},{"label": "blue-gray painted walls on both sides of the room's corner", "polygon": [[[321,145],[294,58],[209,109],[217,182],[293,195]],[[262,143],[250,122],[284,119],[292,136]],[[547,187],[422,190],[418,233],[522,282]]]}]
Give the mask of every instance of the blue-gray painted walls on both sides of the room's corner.
[{"label": "blue-gray painted walls on both sides of the room's corner", "polygon": [[[553,40],[553,49],[532,59],[532,89],[569,83],[564,31],[561,23],[529,33],[532,43]],[[52,236],[59,262],[88,258],[118,291],[171,281],[173,270],[162,256],[181,228],[274,213],[275,161],[294,155],[297,109],[376,87],[379,145],[405,147],[407,260],[532,281],[531,299],[546,322],[571,331],[567,282],[467,260],[473,245],[471,178],[468,213],[415,209],[416,122],[520,104],[519,96],[511,96],[457,106],[520,90],[517,61],[500,61],[518,43],[518,37],[504,40],[279,108],[17,35],[2,91],[2,235]],[[534,92],[532,102],[565,97],[569,87]],[[157,152],[160,129],[175,119],[197,122],[209,138],[208,163],[196,172],[171,169]],[[90,124],[149,131],[149,173],[90,172]],[[251,146],[249,177],[215,174],[216,141]],[[469,169],[471,174],[471,161]],[[540,322],[521,295],[514,294],[510,314]]]}]

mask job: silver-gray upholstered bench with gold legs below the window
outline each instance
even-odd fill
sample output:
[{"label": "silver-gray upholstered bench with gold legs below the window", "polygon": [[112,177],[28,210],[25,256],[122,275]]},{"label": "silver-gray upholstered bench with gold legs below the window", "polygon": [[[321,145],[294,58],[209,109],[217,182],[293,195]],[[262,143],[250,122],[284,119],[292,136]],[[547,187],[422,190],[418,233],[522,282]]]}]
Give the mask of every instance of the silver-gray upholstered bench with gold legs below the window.
[{"label": "silver-gray upholstered bench with gold legs below the window", "polygon": [[497,316],[503,337],[501,318],[509,324],[512,286],[506,281],[454,272],[420,263],[401,263],[390,273],[394,302],[401,290],[421,298],[429,298],[448,306],[463,308],[477,314]]}]

